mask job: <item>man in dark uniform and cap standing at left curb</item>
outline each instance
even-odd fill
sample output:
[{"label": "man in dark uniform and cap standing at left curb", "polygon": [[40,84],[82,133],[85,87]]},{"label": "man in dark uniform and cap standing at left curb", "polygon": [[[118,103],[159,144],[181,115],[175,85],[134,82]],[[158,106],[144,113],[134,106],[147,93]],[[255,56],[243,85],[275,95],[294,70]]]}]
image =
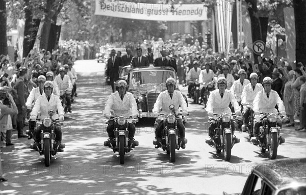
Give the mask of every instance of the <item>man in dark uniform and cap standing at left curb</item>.
[{"label": "man in dark uniform and cap standing at left curb", "polygon": [[18,108],[17,114],[17,131],[18,131],[18,138],[28,137],[27,135],[23,134],[23,126],[24,126],[24,119],[27,116],[27,110],[25,107],[25,99],[24,95],[27,92],[27,87],[24,84],[24,77],[25,77],[25,69],[19,68],[19,78],[17,79],[14,89],[17,92],[18,99],[15,100],[15,103]]}]

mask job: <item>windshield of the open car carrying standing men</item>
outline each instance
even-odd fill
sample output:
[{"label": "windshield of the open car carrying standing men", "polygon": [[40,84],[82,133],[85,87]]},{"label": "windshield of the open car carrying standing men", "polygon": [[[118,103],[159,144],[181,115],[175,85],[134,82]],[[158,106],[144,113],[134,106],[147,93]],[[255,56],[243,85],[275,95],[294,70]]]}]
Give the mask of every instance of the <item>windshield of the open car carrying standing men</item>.
[{"label": "windshield of the open car carrying standing men", "polygon": [[173,77],[173,71],[167,70],[148,70],[141,72],[133,72],[131,75],[131,84],[134,85],[135,82],[139,82],[140,85],[147,83],[163,83],[166,82],[167,78]]}]

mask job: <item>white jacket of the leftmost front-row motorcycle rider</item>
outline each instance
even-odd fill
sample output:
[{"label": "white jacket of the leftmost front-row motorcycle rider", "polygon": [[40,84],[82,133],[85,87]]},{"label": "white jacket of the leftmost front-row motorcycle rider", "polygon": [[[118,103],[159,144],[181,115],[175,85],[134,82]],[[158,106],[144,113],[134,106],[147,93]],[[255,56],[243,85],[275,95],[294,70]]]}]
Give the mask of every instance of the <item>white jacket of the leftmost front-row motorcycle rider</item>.
[{"label": "white jacket of the leftmost front-row motorcycle rider", "polygon": [[[55,112],[54,116],[52,117],[53,119],[58,119],[60,115],[64,116],[64,108],[62,106],[59,96],[51,94],[49,101],[47,100],[46,95],[39,96],[34,104],[31,116],[34,115],[37,118],[44,119],[46,117],[49,117],[48,111],[50,109],[53,109]],[[58,110],[59,115],[56,114],[56,110]],[[40,116],[38,116],[39,111]]]}]

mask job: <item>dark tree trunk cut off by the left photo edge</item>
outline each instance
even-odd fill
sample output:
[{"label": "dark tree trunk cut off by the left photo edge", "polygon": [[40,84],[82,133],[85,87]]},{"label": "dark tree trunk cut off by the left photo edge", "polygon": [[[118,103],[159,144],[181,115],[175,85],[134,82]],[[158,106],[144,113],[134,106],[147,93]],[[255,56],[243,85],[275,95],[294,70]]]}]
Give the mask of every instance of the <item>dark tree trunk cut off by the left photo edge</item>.
[{"label": "dark tree trunk cut off by the left photo edge", "polygon": [[[6,0],[0,0],[0,54],[8,54]],[[1,60],[1,59],[0,59]]]}]

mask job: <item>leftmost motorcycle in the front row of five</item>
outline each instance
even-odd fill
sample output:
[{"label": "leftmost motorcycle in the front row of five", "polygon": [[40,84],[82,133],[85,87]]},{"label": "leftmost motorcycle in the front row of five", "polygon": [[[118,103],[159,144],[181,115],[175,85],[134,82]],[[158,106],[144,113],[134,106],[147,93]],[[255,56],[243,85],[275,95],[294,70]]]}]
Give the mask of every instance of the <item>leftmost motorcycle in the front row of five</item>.
[{"label": "leftmost motorcycle in the front row of five", "polygon": [[58,145],[55,141],[55,124],[60,125],[61,123],[58,119],[52,119],[54,115],[54,110],[49,110],[48,115],[50,118],[45,119],[36,119],[36,123],[41,125],[41,140],[39,142],[39,146],[34,146],[31,144],[32,149],[36,149],[40,155],[44,155],[45,158],[45,166],[50,165],[50,161],[52,156],[57,155],[59,148],[65,148],[65,144]]}]

